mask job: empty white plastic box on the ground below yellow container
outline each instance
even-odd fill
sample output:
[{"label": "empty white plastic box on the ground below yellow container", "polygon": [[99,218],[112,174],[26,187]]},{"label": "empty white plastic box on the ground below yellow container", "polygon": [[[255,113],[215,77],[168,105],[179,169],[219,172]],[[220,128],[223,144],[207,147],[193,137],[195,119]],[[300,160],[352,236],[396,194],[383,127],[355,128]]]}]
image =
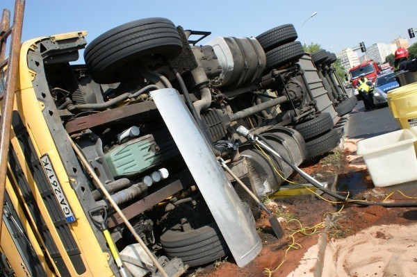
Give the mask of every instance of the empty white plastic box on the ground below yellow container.
[{"label": "empty white plastic box on the ground below yellow container", "polygon": [[363,156],[375,187],[417,180],[416,141],[417,135],[404,129],[358,142],[357,154]]}]

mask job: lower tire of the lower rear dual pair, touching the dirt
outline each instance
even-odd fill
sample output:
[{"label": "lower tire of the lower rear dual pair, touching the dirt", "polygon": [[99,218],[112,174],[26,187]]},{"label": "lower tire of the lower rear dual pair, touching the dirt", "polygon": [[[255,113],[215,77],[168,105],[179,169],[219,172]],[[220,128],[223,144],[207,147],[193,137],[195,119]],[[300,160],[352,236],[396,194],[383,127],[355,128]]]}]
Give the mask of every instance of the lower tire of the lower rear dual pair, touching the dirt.
[{"label": "lower tire of the lower rear dual pair, touching the dirt", "polygon": [[307,159],[311,160],[329,152],[330,150],[334,149],[334,147],[336,147],[340,141],[341,137],[339,133],[332,129],[325,133],[325,135],[306,142],[307,150],[309,151]]}]

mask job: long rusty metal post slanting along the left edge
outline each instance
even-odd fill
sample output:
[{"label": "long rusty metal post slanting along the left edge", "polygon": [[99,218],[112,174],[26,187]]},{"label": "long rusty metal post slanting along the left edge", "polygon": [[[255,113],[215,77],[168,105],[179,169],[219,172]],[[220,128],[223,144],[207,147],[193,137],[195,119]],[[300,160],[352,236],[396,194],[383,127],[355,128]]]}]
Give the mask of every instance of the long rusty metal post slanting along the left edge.
[{"label": "long rusty metal post slanting along the left edge", "polygon": [[[12,124],[13,103],[15,101],[17,69],[19,68],[20,40],[22,38],[23,14],[25,0],[15,1],[13,15],[12,38],[8,58],[6,76],[6,92],[3,96],[0,120],[0,223],[3,219],[4,191],[6,190],[6,171],[8,164],[8,149],[10,146],[10,128]],[[0,224],[0,236],[1,236]]]}]

